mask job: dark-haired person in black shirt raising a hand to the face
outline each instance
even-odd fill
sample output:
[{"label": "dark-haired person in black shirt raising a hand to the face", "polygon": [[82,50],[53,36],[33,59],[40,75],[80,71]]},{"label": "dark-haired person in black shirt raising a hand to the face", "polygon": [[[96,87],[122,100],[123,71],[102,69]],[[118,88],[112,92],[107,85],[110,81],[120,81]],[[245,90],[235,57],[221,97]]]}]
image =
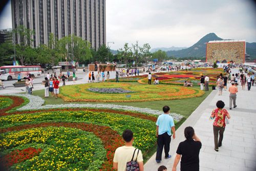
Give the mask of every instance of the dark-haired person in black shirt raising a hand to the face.
[{"label": "dark-haired person in black shirt raising a hand to the face", "polygon": [[186,127],[184,134],[186,140],[180,142],[178,146],[173,171],[176,171],[180,158],[180,169],[182,171],[199,171],[199,153],[202,148],[201,140],[198,138],[192,127]]}]

